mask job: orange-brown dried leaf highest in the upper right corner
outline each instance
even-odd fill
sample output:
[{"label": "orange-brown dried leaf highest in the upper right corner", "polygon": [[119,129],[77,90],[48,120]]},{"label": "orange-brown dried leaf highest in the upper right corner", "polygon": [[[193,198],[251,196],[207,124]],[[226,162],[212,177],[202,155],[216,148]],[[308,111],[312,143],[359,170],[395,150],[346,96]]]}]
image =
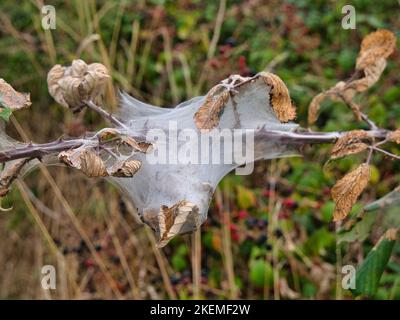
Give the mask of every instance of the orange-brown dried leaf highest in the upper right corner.
[{"label": "orange-brown dried leaf highest in the upper right corner", "polygon": [[396,48],[396,36],[385,29],[368,34],[361,42],[356,69],[363,70],[374,65],[377,60],[389,57]]}]

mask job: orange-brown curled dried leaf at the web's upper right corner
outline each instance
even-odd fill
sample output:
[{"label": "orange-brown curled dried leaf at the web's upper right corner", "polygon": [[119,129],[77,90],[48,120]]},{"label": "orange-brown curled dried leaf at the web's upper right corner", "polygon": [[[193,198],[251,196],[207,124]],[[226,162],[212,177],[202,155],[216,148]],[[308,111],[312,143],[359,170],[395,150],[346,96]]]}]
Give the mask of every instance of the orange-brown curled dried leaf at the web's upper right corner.
[{"label": "orange-brown curled dried leaf at the web's upper right corner", "polygon": [[270,72],[260,72],[259,75],[264,83],[271,87],[271,105],[279,121],[288,122],[296,118],[296,108],[282,79]]}]

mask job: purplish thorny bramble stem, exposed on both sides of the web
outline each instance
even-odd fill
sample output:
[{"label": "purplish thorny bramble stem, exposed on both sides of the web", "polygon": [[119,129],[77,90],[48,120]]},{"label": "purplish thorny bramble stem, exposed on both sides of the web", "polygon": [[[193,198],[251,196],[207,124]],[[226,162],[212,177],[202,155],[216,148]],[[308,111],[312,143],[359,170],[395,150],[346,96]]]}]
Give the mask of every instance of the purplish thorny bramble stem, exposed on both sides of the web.
[{"label": "purplish thorny bramble stem, exposed on both sides of the web", "polygon": [[[373,138],[385,139],[389,131],[378,129],[369,130],[367,132]],[[337,139],[345,134],[346,132],[282,132],[273,130],[261,130],[259,132],[256,132],[256,139],[270,139],[279,143],[301,146],[307,144],[335,143]],[[98,143],[98,141],[94,140],[93,138],[80,138],[71,140],[55,140],[43,144],[29,143],[21,147],[0,151],[0,163],[5,163],[11,160],[22,158],[41,158],[46,155],[57,154],[61,151],[78,148],[87,143],[94,144]],[[380,150],[382,149],[379,149],[379,151]]]}]

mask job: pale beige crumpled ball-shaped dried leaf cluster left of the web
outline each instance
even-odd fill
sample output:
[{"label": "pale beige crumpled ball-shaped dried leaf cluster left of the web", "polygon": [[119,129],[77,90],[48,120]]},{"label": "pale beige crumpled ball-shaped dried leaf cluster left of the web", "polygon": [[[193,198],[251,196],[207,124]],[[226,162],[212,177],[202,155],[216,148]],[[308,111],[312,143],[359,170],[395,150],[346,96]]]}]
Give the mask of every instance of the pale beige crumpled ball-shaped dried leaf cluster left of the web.
[{"label": "pale beige crumpled ball-shaped dried leaf cluster left of the web", "polygon": [[85,100],[94,100],[105,89],[110,78],[107,68],[100,63],[87,65],[74,60],[70,67],[55,65],[47,75],[50,95],[69,108],[80,108]]}]

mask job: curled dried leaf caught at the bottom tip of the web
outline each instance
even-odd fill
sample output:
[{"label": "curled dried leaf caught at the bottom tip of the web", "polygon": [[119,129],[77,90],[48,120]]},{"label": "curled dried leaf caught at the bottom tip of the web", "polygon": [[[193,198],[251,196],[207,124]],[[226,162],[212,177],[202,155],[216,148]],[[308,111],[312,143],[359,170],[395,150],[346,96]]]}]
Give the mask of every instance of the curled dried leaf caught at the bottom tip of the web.
[{"label": "curled dried leaf caught at the bottom tip of the web", "polygon": [[199,209],[189,201],[179,201],[170,208],[162,206],[158,215],[160,233],[158,247],[164,247],[175,235],[179,234],[189,219],[194,220],[195,228],[200,226]]}]

